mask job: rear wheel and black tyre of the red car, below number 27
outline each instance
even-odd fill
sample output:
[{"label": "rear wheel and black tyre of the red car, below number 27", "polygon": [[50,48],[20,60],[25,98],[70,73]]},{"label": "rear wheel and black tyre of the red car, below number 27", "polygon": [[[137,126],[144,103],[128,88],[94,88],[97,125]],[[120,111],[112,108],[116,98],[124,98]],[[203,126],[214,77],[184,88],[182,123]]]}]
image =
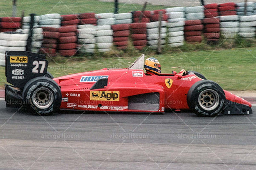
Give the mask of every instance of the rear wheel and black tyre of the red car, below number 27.
[{"label": "rear wheel and black tyre of the red car, below number 27", "polygon": [[36,77],[24,86],[22,97],[26,108],[34,115],[51,115],[61,105],[61,89],[48,77]]}]

